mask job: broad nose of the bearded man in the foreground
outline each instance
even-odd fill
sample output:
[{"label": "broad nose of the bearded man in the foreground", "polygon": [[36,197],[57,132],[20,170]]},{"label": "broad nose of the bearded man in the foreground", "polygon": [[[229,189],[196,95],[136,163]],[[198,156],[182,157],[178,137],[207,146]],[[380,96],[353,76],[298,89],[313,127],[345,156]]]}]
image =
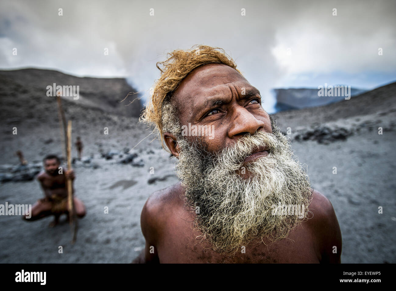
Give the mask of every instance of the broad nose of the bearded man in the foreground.
[{"label": "broad nose of the bearded man in the foreground", "polygon": [[271,126],[269,124],[268,127],[267,123],[255,118],[245,107],[238,106],[234,112],[234,122],[228,131],[228,137],[232,139],[246,135],[247,133],[253,135],[256,131],[260,130],[268,131],[268,128],[271,128]]}]

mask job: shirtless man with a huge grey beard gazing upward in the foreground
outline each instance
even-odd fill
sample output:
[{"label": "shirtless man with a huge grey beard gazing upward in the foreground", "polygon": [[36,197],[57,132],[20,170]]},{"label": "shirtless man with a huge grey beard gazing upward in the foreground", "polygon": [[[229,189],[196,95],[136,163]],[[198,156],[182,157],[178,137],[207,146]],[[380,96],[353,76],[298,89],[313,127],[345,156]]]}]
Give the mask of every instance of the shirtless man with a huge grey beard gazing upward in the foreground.
[{"label": "shirtless man with a huge grey beard gazing upward in the foreground", "polygon": [[223,49],[168,56],[142,120],[177,158],[180,182],[148,198],[133,262],[341,262],[333,206],[310,187],[259,90]]}]

